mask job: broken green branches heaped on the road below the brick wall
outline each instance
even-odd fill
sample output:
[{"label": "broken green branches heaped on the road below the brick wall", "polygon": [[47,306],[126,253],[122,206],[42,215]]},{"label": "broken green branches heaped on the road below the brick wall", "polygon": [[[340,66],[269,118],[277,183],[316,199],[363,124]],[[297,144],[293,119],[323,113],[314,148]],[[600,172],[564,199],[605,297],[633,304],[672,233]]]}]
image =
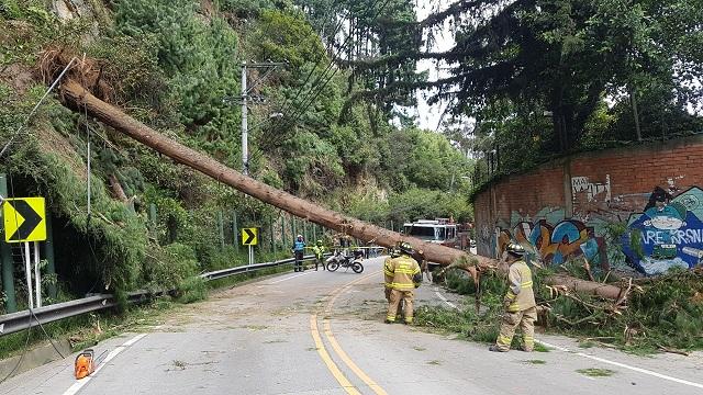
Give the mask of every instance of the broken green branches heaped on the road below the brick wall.
[{"label": "broken green branches heaped on the road below the brick wall", "polygon": [[[416,325],[459,332],[480,342],[493,342],[498,336],[505,280],[496,274],[481,278],[481,311],[473,307],[473,282],[450,271],[446,284],[461,294],[470,295],[462,311],[421,307]],[[553,294],[542,285],[542,279],[551,272],[536,273],[537,303],[548,307],[539,325],[555,334],[587,339],[581,347],[602,343],[633,353],[652,353],[659,350],[701,350],[703,338],[703,271],[672,270],[658,279],[636,282],[626,307],[613,306],[595,296]],[[513,339],[513,347],[520,345]]]}]

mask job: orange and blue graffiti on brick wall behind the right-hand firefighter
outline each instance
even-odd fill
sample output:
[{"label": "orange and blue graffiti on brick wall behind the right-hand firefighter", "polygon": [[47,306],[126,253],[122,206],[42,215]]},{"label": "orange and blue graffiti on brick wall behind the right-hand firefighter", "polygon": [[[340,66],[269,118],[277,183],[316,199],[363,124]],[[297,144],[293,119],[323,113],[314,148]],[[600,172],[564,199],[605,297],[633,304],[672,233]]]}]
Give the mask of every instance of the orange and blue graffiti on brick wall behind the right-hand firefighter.
[{"label": "orange and blue graffiti on brick wall behind the right-hand firefighter", "polygon": [[521,222],[512,229],[501,229],[496,244],[499,255],[511,240],[546,264],[561,264],[579,256],[595,264],[607,264],[607,256],[600,253],[604,250],[603,239],[595,236],[592,227],[577,219],[565,219],[555,225],[546,219]]}]

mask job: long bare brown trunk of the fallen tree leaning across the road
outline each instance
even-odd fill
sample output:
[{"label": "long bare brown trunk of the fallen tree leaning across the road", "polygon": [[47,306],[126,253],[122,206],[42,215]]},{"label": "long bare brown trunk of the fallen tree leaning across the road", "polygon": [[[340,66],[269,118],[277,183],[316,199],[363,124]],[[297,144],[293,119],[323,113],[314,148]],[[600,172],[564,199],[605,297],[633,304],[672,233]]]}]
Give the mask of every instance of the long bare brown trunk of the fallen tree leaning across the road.
[{"label": "long bare brown trunk of the fallen tree leaning across the road", "polygon": [[[383,247],[392,247],[398,241],[405,240],[421,249],[426,260],[449,266],[459,260],[467,260],[469,266],[461,269],[468,271],[473,279],[484,269],[494,269],[498,262],[493,259],[475,256],[461,250],[426,242],[417,238],[408,237],[399,233],[345,216],[341,213],[322,207],[284,191],[277,190],[264,182],[248,178],[211,157],[196,151],[136,121],[115,106],[96,98],[89,90],[77,81],[69,79],[62,84],[65,104],[81,113],[88,113],[100,122],[136,139],[152,149],[168,156],[175,161],[196,169],[219,182],[227,184],[261,202],[281,208],[292,215],[305,218],[330,229],[342,232],[366,242],[375,242]],[[554,276],[554,284],[587,291],[609,300],[617,300],[622,290],[610,284],[594,283],[570,276]]]}]

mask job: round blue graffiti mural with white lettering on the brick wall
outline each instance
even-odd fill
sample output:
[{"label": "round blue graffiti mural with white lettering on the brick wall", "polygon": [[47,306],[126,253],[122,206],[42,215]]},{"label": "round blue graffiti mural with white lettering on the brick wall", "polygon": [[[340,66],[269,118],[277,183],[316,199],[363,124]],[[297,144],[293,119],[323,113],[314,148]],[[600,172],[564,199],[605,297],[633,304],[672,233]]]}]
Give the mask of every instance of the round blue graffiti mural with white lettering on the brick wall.
[{"label": "round blue graffiti mural with white lettering on the brick wall", "polygon": [[703,262],[703,190],[678,194],[657,187],[644,213],[633,214],[623,236],[628,261],[646,274],[670,268],[693,268]]}]

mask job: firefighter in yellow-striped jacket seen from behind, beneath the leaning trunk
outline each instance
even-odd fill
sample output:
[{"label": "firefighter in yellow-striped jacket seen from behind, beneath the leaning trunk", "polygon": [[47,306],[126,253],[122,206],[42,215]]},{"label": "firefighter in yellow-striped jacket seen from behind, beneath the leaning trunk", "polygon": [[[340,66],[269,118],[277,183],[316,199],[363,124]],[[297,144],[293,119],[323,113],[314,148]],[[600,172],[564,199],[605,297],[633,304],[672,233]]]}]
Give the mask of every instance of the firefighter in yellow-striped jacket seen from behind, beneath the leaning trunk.
[{"label": "firefighter in yellow-striped jacket seen from behind, beneath the leaning trunk", "polygon": [[417,261],[412,258],[415,251],[410,244],[400,242],[398,253],[398,257],[387,259],[383,264],[384,286],[389,300],[386,324],[395,321],[401,301],[403,301],[405,311],[404,323],[412,324],[413,290],[420,286],[422,273]]}]

